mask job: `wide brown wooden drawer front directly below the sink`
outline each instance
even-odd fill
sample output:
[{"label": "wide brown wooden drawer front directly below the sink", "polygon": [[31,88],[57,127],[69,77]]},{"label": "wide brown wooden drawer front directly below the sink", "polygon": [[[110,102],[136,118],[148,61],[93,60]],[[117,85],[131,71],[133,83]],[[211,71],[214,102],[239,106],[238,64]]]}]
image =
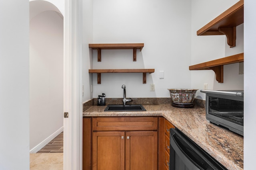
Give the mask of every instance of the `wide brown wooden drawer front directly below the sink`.
[{"label": "wide brown wooden drawer front directly below the sink", "polygon": [[154,131],[158,117],[93,117],[93,131]]}]

